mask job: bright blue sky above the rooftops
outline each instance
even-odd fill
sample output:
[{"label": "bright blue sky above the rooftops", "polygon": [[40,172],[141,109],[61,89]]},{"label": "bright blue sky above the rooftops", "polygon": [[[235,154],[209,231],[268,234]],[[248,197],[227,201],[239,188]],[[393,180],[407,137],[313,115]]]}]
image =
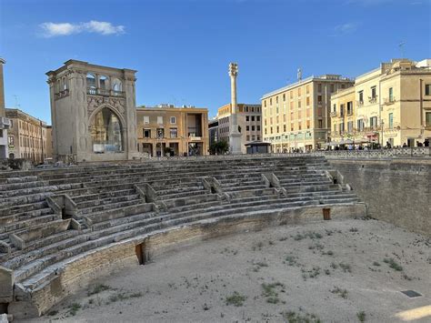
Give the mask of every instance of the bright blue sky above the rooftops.
[{"label": "bright blue sky above the rooftops", "polygon": [[321,74],[357,76],[380,62],[431,57],[430,0],[0,0],[6,107],[50,122],[45,73],[70,59],[138,71],[136,102],[238,101]]}]

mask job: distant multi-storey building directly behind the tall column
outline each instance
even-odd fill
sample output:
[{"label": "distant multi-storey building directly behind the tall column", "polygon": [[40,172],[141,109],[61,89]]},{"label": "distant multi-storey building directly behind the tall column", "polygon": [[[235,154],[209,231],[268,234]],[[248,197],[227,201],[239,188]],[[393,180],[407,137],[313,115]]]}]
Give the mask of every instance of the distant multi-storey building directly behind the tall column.
[{"label": "distant multi-storey building directly behind the tall column", "polygon": [[[246,144],[262,140],[262,106],[239,103],[236,109],[238,128],[241,133],[241,151],[246,154]],[[218,108],[218,131],[220,140],[229,142],[232,105]]]}]

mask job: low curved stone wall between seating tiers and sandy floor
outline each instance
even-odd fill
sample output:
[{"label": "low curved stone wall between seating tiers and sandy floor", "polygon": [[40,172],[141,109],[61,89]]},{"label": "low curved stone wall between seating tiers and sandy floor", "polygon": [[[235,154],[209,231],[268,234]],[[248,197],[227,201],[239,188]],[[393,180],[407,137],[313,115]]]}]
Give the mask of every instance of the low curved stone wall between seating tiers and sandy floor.
[{"label": "low curved stone wall between seating tiers and sandy floor", "polygon": [[[30,318],[45,314],[49,308],[79,288],[85,288],[94,278],[108,274],[115,268],[136,266],[135,246],[145,244],[149,257],[161,255],[181,246],[194,244],[208,238],[258,230],[307,221],[322,221],[323,208],[331,208],[332,218],[365,217],[364,203],[296,207],[271,211],[255,211],[236,216],[210,218],[188,225],[156,230],[145,235],[114,242],[105,247],[87,251],[58,264],[55,278],[45,281],[34,290],[15,284],[15,301],[8,311],[15,318]],[[9,271],[10,277],[12,271]],[[10,283],[10,280],[8,280]],[[10,290],[9,290],[10,292]],[[7,294],[7,293],[6,293]],[[8,301],[11,301],[8,296]]]}]

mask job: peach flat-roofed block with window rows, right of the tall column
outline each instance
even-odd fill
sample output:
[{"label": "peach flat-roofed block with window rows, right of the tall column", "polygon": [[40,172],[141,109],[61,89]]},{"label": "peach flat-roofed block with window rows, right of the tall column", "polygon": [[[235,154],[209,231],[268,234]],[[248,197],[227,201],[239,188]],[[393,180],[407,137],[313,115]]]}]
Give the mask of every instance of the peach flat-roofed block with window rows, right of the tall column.
[{"label": "peach flat-roofed block with window rows, right of the tall column", "polygon": [[330,131],[331,94],[353,85],[339,75],[310,76],[262,96],[264,141],[278,153],[323,148]]}]

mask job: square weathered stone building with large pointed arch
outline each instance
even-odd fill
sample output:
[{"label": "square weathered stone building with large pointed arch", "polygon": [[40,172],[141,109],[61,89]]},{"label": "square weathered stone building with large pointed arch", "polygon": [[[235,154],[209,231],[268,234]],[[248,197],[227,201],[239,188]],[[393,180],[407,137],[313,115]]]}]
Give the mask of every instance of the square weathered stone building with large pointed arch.
[{"label": "square weathered stone building with large pointed arch", "polygon": [[138,156],[135,72],[71,59],[46,73],[56,159],[81,162]]}]

